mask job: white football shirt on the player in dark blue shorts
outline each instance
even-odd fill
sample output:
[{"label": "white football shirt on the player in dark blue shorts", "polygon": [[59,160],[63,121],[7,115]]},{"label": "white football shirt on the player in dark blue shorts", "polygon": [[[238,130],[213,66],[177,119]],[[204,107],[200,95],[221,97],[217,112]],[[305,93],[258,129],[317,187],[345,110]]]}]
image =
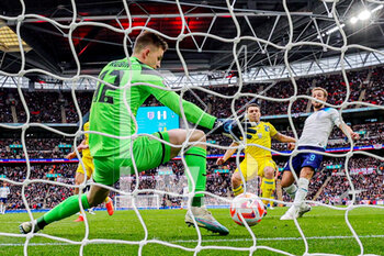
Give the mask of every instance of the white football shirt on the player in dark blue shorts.
[{"label": "white football shirt on the player in dark blue shorts", "polygon": [[332,108],[323,108],[310,114],[304,123],[298,146],[326,147],[334,125],[341,123],[339,113]]}]

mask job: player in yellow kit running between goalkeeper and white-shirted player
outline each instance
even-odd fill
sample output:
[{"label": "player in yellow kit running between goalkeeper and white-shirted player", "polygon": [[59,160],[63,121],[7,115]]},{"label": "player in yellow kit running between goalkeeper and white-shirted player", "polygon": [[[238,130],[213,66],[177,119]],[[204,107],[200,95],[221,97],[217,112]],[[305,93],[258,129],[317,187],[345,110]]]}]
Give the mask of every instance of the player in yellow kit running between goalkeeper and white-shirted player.
[{"label": "player in yellow kit running between goalkeeper and white-shirted player", "polygon": [[[260,107],[256,103],[247,105],[247,116],[249,122],[257,123],[256,126],[252,126],[252,130],[256,130],[256,134],[252,135],[251,138],[247,138],[247,144],[255,145],[246,146],[245,159],[240,163],[240,170],[246,181],[253,179],[256,176],[260,176],[262,178],[260,187],[262,190],[262,198],[273,199],[272,194],[275,190],[274,174],[278,166],[273,162],[270,151],[256,145],[271,148],[271,138],[283,143],[295,143],[296,141],[291,136],[279,133],[271,123],[261,122]],[[238,143],[234,142],[230,144],[230,147],[238,145]],[[216,164],[223,165],[236,151],[236,148],[227,149],[224,156],[217,159]],[[242,180],[238,168],[236,168],[234,175],[231,176],[231,187],[235,197],[244,192]],[[263,203],[267,205],[269,200],[263,200]]]}]

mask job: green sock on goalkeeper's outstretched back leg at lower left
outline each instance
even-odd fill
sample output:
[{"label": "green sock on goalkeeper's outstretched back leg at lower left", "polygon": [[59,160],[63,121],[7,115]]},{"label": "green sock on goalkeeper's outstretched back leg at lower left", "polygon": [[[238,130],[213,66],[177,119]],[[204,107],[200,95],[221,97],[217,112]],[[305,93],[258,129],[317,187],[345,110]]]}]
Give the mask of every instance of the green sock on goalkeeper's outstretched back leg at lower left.
[{"label": "green sock on goalkeeper's outstretched back leg at lower left", "polygon": [[[81,194],[81,202],[84,210],[89,208],[87,194]],[[60,204],[56,205],[49,212],[37,219],[37,225],[41,230],[47,224],[55,221],[60,221],[67,216],[74,215],[80,211],[79,196],[72,196],[67,198]]]}]

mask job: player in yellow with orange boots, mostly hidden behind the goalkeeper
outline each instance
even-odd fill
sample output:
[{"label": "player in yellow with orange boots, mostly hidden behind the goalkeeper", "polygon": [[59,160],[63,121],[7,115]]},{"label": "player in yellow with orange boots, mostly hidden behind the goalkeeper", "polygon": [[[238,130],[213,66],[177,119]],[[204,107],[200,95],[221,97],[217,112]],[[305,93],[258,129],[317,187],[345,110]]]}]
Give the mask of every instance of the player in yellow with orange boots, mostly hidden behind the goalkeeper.
[{"label": "player in yellow with orange boots, mostly hidden behind the goalkeeper", "polygon": [[[84,123],[83,125],[83,130],[84,131],[89,131],[89,122]],[[94,171],[94,165],[93,165],[93,158],[91,156],[90,149],[89,149],[89,134],[86,133],[84,134],[84,140],[82,140],[82,142],[80,143],[80,145],[77,147],[78,152],[82,153],[82,163],[84,164],[86,167],[86,171],[87,171],[87,180],[89,180]],[[72,159],[76,157],[76,152],[71,152],[69,153],[66,158],[67,159]],[[84,176],[86,176],[86,171],[82,168],[82,165],[79,163],[77,170],[76,170],[76,176],[75,176],[75,185],[81,185],[84,181]],[[79,188],[75,188],[75,194],[79,193]],[[114,212],[113,209],[113,202],[112,199],[110,197],[105,198],[105,208],[108,211],[108,214],[112,215]],[[80,222],[83,221],[83,216],[80,214],[79,218],[76,220],[76,222]]]}]

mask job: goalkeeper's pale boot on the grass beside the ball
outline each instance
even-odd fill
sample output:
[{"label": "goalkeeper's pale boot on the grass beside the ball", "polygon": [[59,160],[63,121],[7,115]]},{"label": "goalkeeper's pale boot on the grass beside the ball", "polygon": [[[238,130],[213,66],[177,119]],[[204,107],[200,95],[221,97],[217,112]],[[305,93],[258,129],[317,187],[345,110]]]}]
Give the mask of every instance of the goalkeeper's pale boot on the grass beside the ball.
[{"label": "goalkeeper's pale boot on the grass beside the ball", "polygon": [[[227,227],[218,223],[218,221],[213,218],[212,213],[205,208],[192,207],[191,211],[193,213],[194,220],[197,226],[212,231],[213,233],[218,233],[219,235],[228,235],[229,231]],[[194,226],[192,214],[190,211],[185,214],[185,223],[189,226]]]}]

